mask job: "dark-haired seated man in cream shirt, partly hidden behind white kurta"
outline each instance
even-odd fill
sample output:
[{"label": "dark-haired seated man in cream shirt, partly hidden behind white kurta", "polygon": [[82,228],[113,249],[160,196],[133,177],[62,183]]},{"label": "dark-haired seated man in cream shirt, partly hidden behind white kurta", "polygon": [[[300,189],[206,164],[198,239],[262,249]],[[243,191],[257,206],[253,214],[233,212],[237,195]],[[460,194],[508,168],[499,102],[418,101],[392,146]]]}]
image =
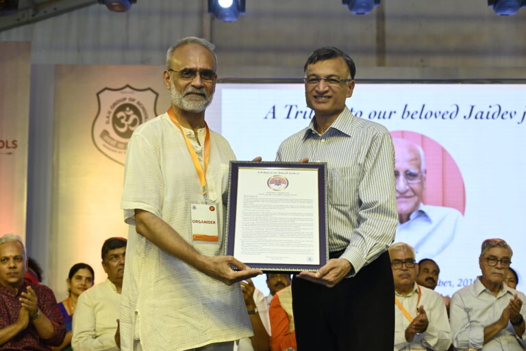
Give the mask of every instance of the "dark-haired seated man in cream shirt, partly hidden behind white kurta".
[{"label": "dark-haired seated man in cream shirt, partly hidden behind white kurta", "polygon": [[121,306],[126,239],[110,237],[102,246],[102,267],[108,279],[79,296],[73,314],[75,351],[120,350],[118,314]]}]

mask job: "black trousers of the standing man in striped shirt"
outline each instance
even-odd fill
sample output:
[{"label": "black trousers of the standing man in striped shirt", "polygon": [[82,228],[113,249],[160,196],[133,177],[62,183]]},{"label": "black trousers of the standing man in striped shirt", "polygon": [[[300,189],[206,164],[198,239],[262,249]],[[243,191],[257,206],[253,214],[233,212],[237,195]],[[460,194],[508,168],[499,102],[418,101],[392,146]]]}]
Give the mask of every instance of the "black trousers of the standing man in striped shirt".
[{"label": "black trousers of the standing man in striped shirt", "polygon": [[392,351],[394,296],[388,252],[332,288],[294,278],[298,351]]}]

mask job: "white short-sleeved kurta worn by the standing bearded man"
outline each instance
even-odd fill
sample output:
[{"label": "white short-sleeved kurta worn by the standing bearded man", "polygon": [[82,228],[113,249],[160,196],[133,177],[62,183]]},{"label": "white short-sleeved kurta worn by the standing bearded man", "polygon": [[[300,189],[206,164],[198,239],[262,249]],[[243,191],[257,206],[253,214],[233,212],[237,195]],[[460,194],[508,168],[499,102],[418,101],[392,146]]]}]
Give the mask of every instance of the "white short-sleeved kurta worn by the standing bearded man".
[{"label": "white short-sleeved kurta worn by the standing bearded man", "polygon": [[[205,129],[198,132],[204,144]],[[201,155],[193,133],[185,131]],[[121,208],[129,226],[121,302],[121,347],[132,350],[188,350],[252,335],[238,284],[230,287],[160,250],[136,233],[134,209],[149,211],[168,223],[203,255],[223,255],[229,161],[228,142],[210,131],[206,180],[218,210],[218,242],[194,242],[190,205],[205,203],[188,147],[179,129],[162,114],[132,135],[127,148]]]}]

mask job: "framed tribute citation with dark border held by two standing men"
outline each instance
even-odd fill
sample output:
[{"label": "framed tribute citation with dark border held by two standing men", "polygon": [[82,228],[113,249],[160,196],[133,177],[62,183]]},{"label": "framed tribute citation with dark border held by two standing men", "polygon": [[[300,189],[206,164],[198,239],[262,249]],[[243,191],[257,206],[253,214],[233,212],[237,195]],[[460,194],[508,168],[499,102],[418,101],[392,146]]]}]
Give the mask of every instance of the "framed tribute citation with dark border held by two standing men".
[{"label": "framed tribute citation with dark border held by two standing men", "polygon": [[226,255],[264,272],[328,260],[325,163],[231,161]]}]

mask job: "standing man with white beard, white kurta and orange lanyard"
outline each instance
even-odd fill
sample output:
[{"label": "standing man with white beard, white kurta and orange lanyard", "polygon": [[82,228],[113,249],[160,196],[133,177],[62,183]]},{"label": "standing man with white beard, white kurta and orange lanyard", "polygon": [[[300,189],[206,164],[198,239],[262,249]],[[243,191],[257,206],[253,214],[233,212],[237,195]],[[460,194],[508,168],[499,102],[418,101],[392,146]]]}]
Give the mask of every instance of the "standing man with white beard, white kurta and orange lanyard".
[{"label": "standing man with white beard, white kurta and orange lanyard", "polygon": [[213,49],[195,37],[168,49],[171,107],[140,125],[128,144],[122,350],[231,351],[234,340],[252,335],[237,282],[261,272],[221,256],[235,157],[205,122],[217,80]]}]

